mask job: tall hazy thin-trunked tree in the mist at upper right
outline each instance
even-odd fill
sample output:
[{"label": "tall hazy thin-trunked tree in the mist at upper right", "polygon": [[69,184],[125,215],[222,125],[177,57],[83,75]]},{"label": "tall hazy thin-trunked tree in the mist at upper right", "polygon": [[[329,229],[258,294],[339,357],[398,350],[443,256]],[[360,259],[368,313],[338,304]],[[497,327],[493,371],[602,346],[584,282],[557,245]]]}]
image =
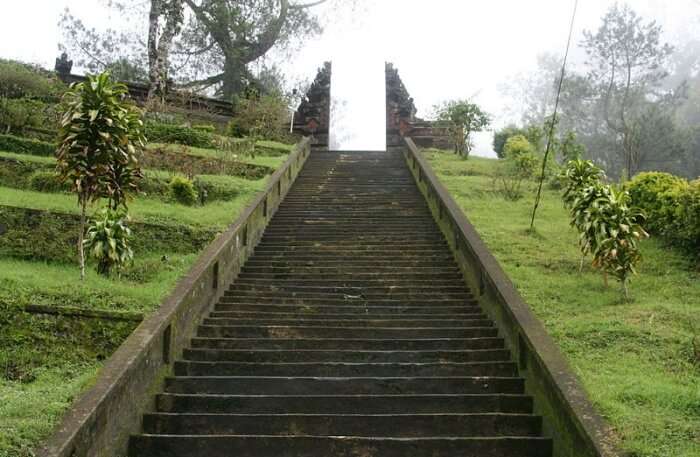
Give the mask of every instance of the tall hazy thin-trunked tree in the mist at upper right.
[{"label": "tall hazy thin-trunked tree in the mist at upper right", "polygon": [[621,141],[628,177],[638,169],[635,118],[652,89],[667,75],[664,66],[673,48],[661,43],[661,26],[644,23],[628,5],[614,4],[582,43],[590,61],[589,79],[600,94],[607,127]]}]

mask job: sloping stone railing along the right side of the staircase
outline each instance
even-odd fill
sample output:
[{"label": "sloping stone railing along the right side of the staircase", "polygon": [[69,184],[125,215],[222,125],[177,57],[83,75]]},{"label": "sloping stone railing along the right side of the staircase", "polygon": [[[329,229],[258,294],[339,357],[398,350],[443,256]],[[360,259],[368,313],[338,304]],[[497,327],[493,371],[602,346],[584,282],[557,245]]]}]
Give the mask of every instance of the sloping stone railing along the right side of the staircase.
[{"label": "sloping stone railing along the right side of the staircase", "polygon": [[404,154],[416,183],[444,233],[465,282],[493,319],[516,358],[535,414],[554,442],[554,457],[619,455],[614,436],[593,408],[556,343],[501,269],[472,224],[443,187],[415,143]]}]

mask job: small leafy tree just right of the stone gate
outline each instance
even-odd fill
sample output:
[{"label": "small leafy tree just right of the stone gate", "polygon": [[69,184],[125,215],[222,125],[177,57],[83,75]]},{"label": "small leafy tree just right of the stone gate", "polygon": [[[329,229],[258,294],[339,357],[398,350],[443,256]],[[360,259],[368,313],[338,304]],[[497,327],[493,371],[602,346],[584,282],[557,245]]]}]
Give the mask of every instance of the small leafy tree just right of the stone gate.
[{"label": "small leafy tree just right of the stone gate", "polygon": [[469,100],[452,100],[436,107],[439,121],[446,122],[453,136],[455,154],[469,157],[473,144],[471,134],[481,132],[491,123],[491,117],[479,105]]}]

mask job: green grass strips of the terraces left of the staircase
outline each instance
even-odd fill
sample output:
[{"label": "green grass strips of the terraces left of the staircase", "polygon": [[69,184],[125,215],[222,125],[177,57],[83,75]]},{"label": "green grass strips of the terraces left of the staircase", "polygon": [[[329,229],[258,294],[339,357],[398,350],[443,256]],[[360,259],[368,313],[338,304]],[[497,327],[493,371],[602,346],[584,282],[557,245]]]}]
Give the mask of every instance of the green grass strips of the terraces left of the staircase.
[{"label": "green grass strips of the terraces left of the staircase", "polygon": [[[282,148],[279,144],[266,146],[291,150],[291,146]],[[55,163],[51,157],[7,152],[0,152],[0,156]],[[242,161],[277,168],[286,158],[283,154]],[[148,170],[148,174],[166,177],[171,173]],[[198,179],[234,189],[231,194],[235,196],[213,200],[204,206],[185,206],[140,196],[129,204],[132,219],[221,230],[264,188],[268,178],[247,180],[199,175]],[[73,214],[79,211],[72,194],[1,186],[0,205]],[[94,205],[91,212],[102,206]],[[31,314],[23,311],[24,307],[42,304],[148,314],[158,307],[196,258],[196,254],[140,251],[134,265],[120,277],[99,276],[94,264],[88,263],[87,277],[82,282],[76,265],[54,258],[51,261],[0,258],[0,457],[33,456],[32,449],[52,432],[71,402],[94,381],[103,361],[137,325]]]}]

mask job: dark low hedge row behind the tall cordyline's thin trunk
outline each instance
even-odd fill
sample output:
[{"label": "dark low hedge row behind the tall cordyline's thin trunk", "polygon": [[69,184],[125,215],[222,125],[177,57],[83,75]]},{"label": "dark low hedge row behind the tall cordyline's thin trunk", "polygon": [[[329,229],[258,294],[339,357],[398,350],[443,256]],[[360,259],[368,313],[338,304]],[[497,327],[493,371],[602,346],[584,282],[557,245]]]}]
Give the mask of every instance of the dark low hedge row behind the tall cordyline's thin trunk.
[{"label": "dark low hedge row behind the tall cordyline's thin trunk", "polygon": [[[74,263],[79,217],[74,214],[0,206],[0,257]],[[141,252],[191,254],[216,236],[211,229],[132,222],[132,247]]]}]

